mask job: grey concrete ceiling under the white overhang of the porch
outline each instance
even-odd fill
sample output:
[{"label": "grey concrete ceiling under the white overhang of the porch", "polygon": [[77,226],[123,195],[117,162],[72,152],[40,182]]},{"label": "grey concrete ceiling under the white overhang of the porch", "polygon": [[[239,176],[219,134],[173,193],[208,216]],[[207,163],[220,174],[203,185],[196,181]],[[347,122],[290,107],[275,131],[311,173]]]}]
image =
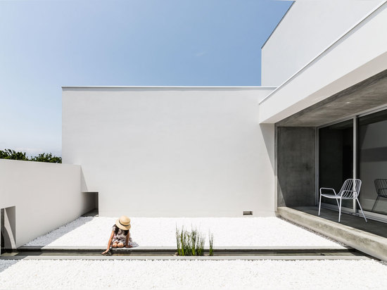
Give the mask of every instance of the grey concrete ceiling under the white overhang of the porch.
[{"label": "grey concrete ceiling under the white overhang of the porch", "polygon": [[387,104],[387,70],[277,122],[279,127],[318,127]]}]

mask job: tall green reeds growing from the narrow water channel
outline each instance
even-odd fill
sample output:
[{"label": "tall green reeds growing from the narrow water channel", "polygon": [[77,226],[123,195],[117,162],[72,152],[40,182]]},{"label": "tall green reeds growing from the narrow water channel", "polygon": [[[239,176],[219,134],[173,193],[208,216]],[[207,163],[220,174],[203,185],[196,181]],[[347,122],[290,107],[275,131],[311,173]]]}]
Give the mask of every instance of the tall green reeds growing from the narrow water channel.
[{"label": "tall green reeds growing from the narrow water channel", "polygon": [[189,232],[184,226],[182,229],[176,228],[176,242],[179,256],[204,256],[205,237],[198,229]]}]

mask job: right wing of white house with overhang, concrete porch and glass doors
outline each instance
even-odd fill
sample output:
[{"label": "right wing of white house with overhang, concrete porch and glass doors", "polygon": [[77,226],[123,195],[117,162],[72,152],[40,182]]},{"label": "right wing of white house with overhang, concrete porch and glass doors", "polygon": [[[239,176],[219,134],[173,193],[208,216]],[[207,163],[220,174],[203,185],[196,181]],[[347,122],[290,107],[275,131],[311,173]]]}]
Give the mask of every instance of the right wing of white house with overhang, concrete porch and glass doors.
[{"label": "right wing of white house with overhang, concrete porch and glass doors", "polygon": [[366,215],[386,220],[386,198],[373,208],[387,178],[386,15],[386,1],[296,1],[262,47],[262,84],[278,85],[259,103],[276,126],[277,206],[315,206],[319,187],[357,177]]}]

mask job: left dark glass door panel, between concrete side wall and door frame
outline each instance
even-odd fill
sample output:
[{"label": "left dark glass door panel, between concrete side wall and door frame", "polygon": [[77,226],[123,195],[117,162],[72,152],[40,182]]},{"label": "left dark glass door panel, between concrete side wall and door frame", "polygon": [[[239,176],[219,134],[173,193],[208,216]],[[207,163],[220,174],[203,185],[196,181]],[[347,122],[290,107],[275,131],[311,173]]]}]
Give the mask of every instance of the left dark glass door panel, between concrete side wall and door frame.
[{"label": "left dark glass door panel, between concrete side wall and door frame", "polygon": [[[340,191],[345,179],[353,178],[353,119],[319,129],[319,188]],[[337,206],[336,199],[322,198]],[[342,206],[353,208],[353,201]]]}]

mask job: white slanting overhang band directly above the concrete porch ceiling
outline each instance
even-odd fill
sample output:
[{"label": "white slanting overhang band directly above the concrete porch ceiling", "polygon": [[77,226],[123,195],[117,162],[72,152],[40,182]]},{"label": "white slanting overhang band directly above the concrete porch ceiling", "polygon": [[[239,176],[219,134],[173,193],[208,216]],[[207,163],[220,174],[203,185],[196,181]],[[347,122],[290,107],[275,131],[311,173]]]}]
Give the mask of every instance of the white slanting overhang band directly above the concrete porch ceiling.
[{"label": "white slanting overhang band directly above the concrete porch ceiling", "polygon": [[279,122],[386,70],[386,29],[387,3],[261,101],[260,122]]}]

